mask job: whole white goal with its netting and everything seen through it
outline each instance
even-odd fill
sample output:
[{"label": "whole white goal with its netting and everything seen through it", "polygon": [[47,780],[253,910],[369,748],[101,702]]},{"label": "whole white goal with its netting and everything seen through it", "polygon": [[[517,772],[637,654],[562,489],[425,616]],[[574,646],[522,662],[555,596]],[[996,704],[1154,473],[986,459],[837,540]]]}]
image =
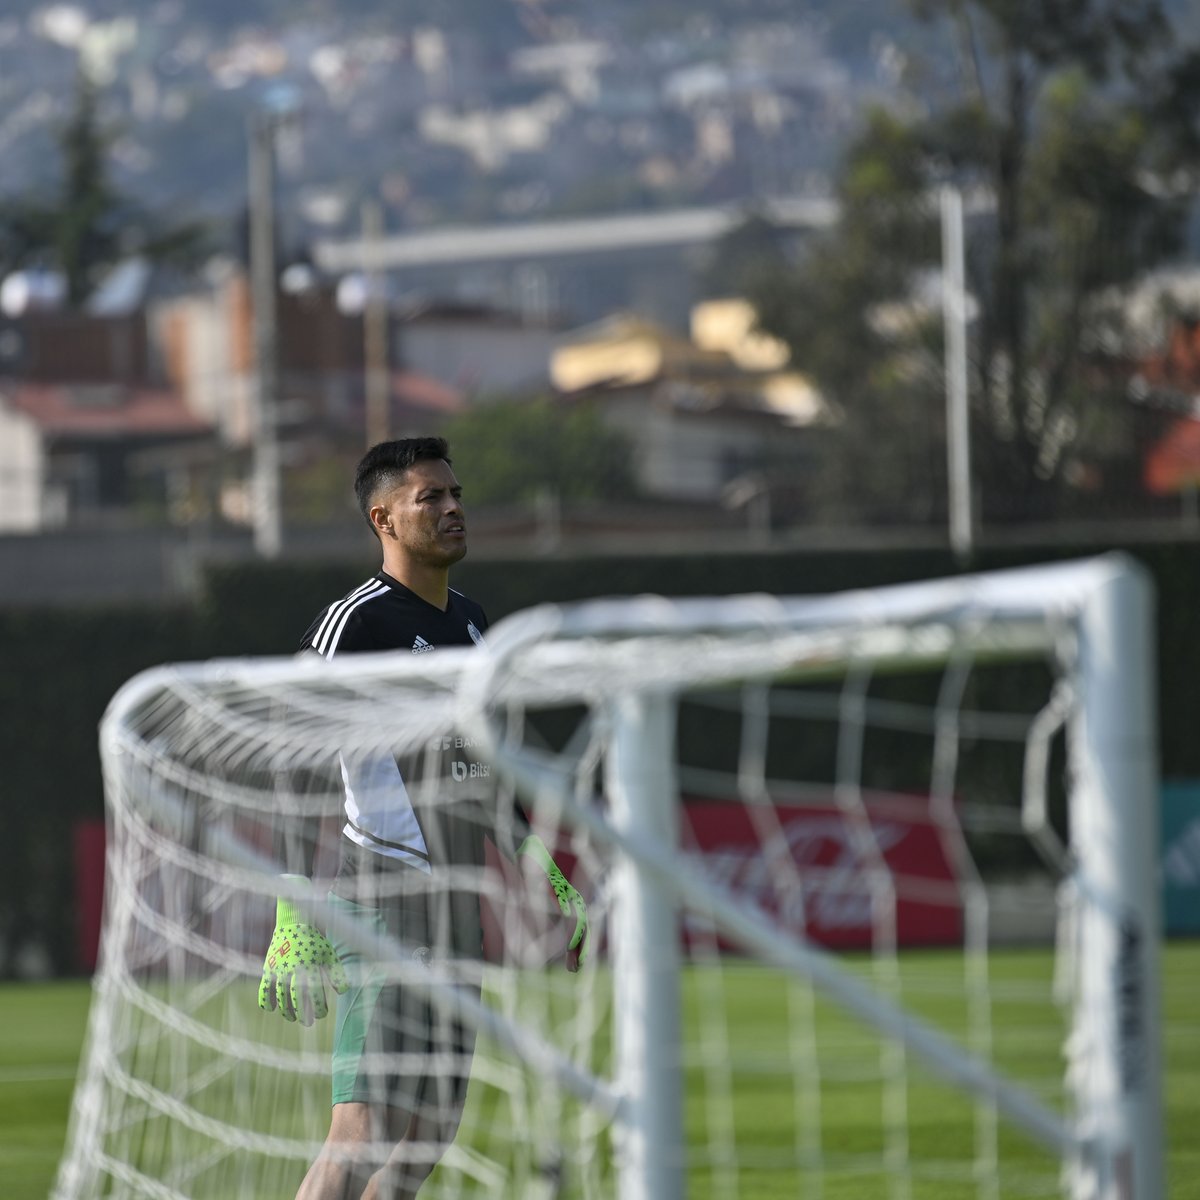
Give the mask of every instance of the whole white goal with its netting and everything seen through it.
[{"label": "whole white goal with its netting and everything seen through it", "polygon": [[[368,1099],[462,1109],[410,1140],[421,1200],[1162,1200],[1152,644],[1108,556],[138,676],[55,1194],[296,1193],[353,1014],[259,1009],[286,894],[390,1034]],[[343,776],[392,762],[431,872],[348,853]],[[587,899],[578,973],[496,848],[517,809]],[[419,932],[376,919],[415,895]]]}]

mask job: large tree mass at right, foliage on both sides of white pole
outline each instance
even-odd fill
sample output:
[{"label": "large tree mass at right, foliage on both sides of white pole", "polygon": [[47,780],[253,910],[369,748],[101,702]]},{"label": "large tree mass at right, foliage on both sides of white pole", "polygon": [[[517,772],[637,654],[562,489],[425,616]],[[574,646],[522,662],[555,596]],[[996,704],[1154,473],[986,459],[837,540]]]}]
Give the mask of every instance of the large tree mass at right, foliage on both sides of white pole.
[{"label": "large tree mass at right, foliage on both sides of white pole", "polygon": [[1158,0],[914,7],[947,32],[953,71],[913,65],[908,103],[871,114],[838,227],[760,283],[762,323],[842,410],[844,490],[886,503],[895,438],[928,428],[924,456],[941,457],[941,316],[914,302],[938,264],[932,199],[954,181],[984,200],[968,238],[977,478],[992,515],[1050,515],[1115,412],[1092,370],[1105,300],[1180,245],[1186,208],[1163,182],[1195,161],[1196,53]]}]

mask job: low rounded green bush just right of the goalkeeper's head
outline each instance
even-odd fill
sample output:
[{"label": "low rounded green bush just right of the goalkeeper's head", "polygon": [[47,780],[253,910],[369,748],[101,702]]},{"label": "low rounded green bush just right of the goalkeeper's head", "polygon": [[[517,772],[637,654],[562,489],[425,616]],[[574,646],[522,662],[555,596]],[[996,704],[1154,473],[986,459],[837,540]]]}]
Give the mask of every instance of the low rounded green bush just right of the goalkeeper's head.
[{"label": "low rounded green bush just right of the goalkeeper's head", "polygon": [[526,504],[550,492],[565,502],[628,497],[630,446],[586,403],[504,400],[480,404],[445,430],[472,504]]}]

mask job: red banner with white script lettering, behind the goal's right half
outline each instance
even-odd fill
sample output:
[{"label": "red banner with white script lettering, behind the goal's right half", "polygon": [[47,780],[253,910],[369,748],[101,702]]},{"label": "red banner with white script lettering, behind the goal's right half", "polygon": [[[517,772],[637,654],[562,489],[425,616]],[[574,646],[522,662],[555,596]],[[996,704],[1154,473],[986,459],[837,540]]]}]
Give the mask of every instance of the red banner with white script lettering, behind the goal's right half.
[{"label": "red banner with white script lettering, behind the goal's right half", "polygon": [[[714,880],[822,946],[866,948],[893,917],[901,946],[961,941],[961,899],[929,802],[874,794],[866,809],[864,821],[834,803],[690,800],[683,840]],[[704,936],[703,916],[688,914],[684,934]]]}]

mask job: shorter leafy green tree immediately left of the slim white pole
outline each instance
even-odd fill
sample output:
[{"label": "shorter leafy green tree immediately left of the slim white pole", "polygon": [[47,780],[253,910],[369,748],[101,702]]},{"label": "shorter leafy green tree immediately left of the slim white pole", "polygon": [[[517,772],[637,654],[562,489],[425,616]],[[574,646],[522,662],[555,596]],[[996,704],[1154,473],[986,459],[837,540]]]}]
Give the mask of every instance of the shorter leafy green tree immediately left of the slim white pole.
[{"label": "shorter leafy green tree immediately left of the slim white pole", "polygon": [[760,324],[835,413],[814,467],[818,517],[920,522],[942,503],[938,332],[929,311],[898,302],[936,253],[925,188],[913,130],[871,113],[842,163],[836,229],[750,287]]}]

